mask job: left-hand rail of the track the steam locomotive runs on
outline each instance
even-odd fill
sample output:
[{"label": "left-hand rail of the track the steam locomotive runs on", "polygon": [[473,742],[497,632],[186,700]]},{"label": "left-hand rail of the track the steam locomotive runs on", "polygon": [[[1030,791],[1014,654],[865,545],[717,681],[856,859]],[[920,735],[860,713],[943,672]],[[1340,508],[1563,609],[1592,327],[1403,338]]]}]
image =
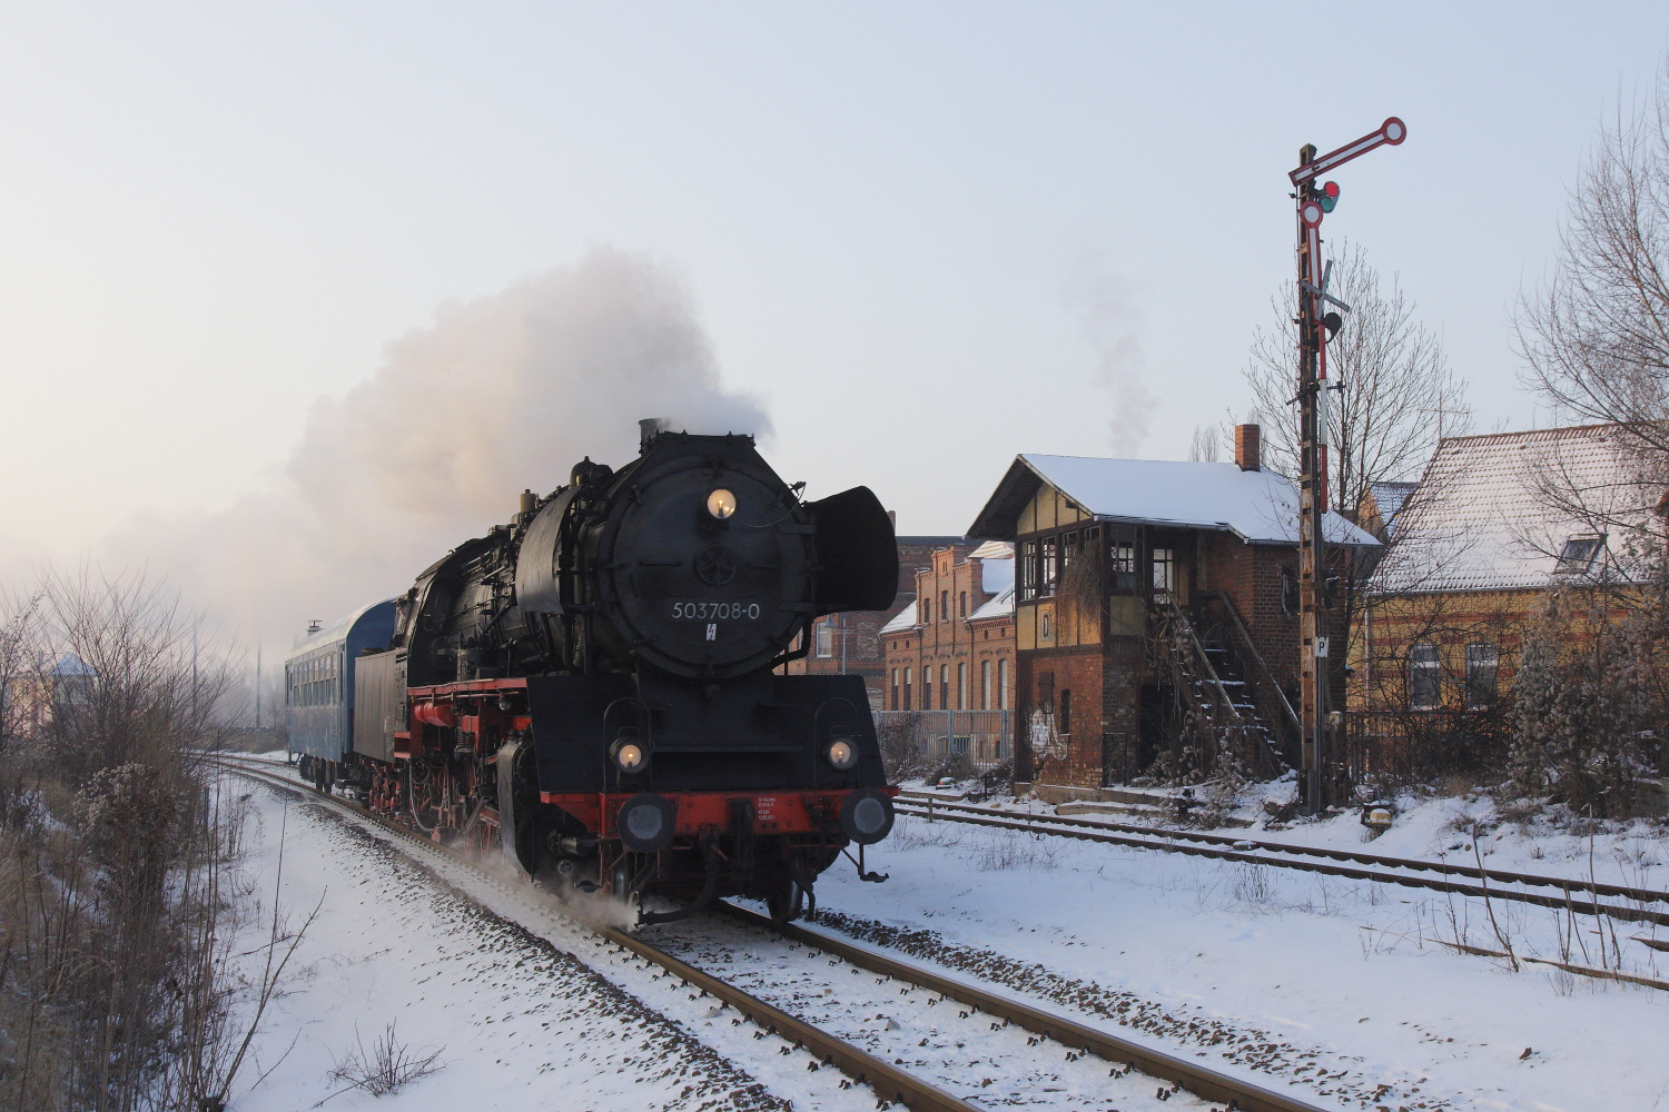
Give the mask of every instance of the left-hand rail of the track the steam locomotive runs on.
[{"label": "left-hand rail of the track the steam locomotive runs on", "polygon": [[[367,810],[359,804],[339,799],[335,795],[320,795],[317,790],[312,790],[310,785],[277,775],[270,769],[259,767],[262,764],[270,764],[270,762],[259,762],[229,754],[212,755],[209,757],[209,762],[225,769],[234,775],[242,775],[254,780],[260,780],[264,784],[277,785],[284,790],[295,792],[297,795],[302,795],[305,799],[332,805],[342,812],[354,815],[355,819],[372,822],[377,827],[394,835],[399,835],[401,839],[412,842],[431,854],[446,857],[449,862],[471,870],[481,880],[491,884],[492,887],[502,892],[509,892],[511,895],[517,895],[522,899],[526,899],[527,895],[526,892],[512,890],[512,887],[506,884],[501,877],[494,877],[491,872],[471,862],[464,854],[459,854],[457,850],[447,845],[432,842],[427,837],[419,835],[416,830],[407,829],[397,822],[392,822],[387,817],[379,815],[372,810]],[[819,1027],[814,1027],[801,1019],[796,1019],[788,1012],[771,1004],[766,1004],[764,1000],[759,1000],[758,997],[743,992],[741,989],[724,980],[719,980],[718,977],[713,977],[711,974],[704,974],[699,969],[694,969],[693,965],[678,960],[671,954],[666,954],[664,950],[649,945],[648,942],[643,942],[641,939],[634,939],[633,935],[623,930],[616,930],[613,927],[601,927],[577,919],[572,919],[571,922],[586,927],[587,930],[594,932],[599,939],[611,942],[621,947],[623,950],[629,950],[638,957],[644,959],[646,962],[659,965],[666,972],[673,974],[674,977],[688,984],[691,989],[718,997],[724,1004],[734,1007],[738,1012],[746,1015],[763,1030],[768,1030],[778,1035],[779,1039],[794,1044],[796,1047],[804,1047],[806,1050],[814,1054],[821,1062],[831,1064],[853,1080],[870,1085],[870,1089],[875,1090],[875,1095],[883,1102],[888,1104],[900,1102],[906,1109],[911,1109],[913,1112],[978,1112],[975,1105],[945,1092],[943,1089],[938,1089],[936,1085],[926,1080],[921,1080],[915,1074],[901,1070],[891,1062],[885,1062],[875,1057],[873,1054],[868,1054],[866,1050],[851,1045],[840,1035],[833,1035]]]}]

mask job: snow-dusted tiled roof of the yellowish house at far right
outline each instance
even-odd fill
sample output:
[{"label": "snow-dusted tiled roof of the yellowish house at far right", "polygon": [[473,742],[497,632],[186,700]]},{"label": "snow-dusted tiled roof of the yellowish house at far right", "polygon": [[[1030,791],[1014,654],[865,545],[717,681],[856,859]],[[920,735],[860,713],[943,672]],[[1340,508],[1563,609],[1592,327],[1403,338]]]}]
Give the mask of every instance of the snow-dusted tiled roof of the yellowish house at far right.
[{"label": "snow-dusted tiled roof of the yellowish house at far right", "polygon": [[[1616,425],[1450,437],[1402,505],[1399,543],[1374,592],[1544,587],[1561,572],[1636,579],[1651,507],[1647,482]],[[1577,508],[1577,503],[1581,508]],[[1592,565],[1566,562],[1571,540],[1604,537]]]}]

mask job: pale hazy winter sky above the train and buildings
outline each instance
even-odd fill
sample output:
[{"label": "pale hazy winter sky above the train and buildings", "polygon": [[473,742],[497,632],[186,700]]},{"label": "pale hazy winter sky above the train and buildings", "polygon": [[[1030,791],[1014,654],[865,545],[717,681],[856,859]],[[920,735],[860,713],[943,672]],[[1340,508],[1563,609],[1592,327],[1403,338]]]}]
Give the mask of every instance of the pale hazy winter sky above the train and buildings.
[{"label": "pale hazy winter sky above the train and buildings", "polygon": [[1387,115],[1324,230],[1527,427],[1514,297],[1669,8],[1392,7],[10,3],[0,537],[220,510],[439,305],[598,247],[681,278],[788,478],[961,532],[1015,452],[1242,412],[1285,172]]}]

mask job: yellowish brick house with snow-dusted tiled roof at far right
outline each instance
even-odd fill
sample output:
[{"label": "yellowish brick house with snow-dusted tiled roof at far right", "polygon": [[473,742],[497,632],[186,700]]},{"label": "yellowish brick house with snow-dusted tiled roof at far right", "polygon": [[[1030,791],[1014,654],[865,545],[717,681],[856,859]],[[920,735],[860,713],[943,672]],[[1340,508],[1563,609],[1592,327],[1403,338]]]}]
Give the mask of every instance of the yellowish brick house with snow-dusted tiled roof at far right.
[{"label": "yellowish brick house with snow-dusted tiled roof at far right", "polygon": [[1651,575],[1662,497],[1614,425],[1444,438],[1369,580],[1350,710],[1405,730],[1405,712],[1494,709],[1551,589]]}]

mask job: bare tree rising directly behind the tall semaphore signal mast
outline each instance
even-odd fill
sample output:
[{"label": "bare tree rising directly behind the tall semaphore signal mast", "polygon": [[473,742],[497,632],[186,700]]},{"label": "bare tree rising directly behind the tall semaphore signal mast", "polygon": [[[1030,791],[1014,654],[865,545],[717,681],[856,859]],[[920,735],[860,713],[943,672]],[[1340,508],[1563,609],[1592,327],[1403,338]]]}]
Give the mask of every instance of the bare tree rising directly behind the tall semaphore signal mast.
[{"label": "bare tree rising directly behind the tall semaphore signal mast", "polygon": [[[1415,478],[1439,437],[1472,428],[1465,380],[1449,368],[1439,338],[1414,317],[1397,277],[1389,288],[1360,247],[1344,243],[1329,292],[1347,302],[1327,345],[1329,485],[1334,505],[1355,512],[1370,483]],[[1265,413],[1263,463],[1298,475],[1297,288],[1272,300],[1277,325],[1258,328],[1245,368],[1252,400]]]}]

